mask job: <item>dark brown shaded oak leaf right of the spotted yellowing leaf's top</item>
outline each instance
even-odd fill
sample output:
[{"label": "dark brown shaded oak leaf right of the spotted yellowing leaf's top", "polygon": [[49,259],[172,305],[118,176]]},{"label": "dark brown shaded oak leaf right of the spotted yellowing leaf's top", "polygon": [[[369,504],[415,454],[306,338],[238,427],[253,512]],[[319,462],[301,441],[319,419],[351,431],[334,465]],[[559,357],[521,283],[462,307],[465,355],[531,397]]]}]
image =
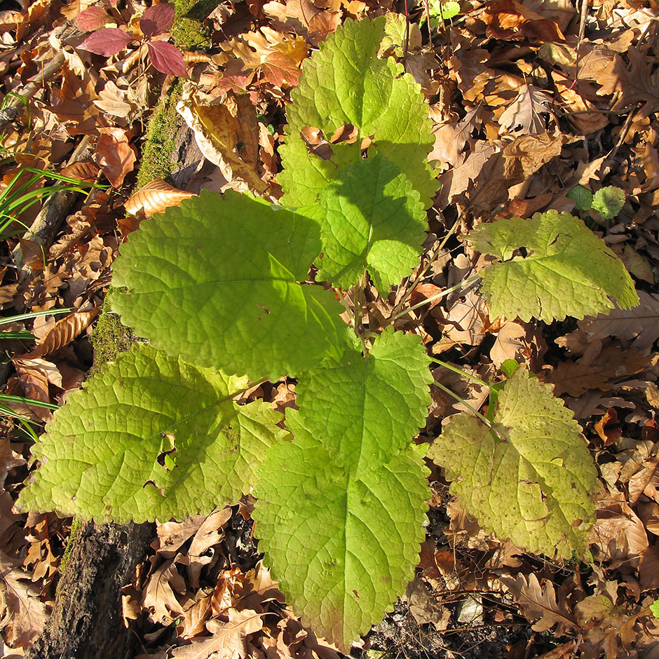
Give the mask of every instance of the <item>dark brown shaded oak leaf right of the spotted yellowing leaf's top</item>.
[{"label": "dark brown shaded oak leaf right of the spotted yellowing leaf's top", "polygon": [[609,391],[612,380],[639,373],[649,365],[648,358],[635,350],[609,345],[600,352],[594,341],[582,358],[560,362],[544,380],[554,385],[554,395],[566,393],[576,398],[589,389]]}]

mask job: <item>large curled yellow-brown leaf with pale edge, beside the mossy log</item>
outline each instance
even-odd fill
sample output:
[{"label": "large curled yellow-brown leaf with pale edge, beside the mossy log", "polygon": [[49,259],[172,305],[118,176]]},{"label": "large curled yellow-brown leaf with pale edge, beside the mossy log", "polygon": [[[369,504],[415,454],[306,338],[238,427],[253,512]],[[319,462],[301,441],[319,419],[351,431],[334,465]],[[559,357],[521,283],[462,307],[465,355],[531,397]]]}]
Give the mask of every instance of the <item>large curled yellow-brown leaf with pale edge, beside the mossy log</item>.
[{"label": "large curled yellow-brown leaf with pale edge, beside the mossy log", "polygon": [[266,192],[268,184],[257,173],[259,125],[249,95],[229,93],[224,103],[203,105],[189,93],[177,111],[204,157],[220,168],[233,189],[258,196]]}]

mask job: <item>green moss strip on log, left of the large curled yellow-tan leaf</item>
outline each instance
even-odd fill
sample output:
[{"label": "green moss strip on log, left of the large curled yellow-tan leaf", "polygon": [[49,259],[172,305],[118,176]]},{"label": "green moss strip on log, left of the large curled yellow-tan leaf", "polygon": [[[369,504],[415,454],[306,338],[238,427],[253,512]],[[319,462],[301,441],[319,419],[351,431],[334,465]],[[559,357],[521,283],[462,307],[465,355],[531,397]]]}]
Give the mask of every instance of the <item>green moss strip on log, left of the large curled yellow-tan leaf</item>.
[{"label": "green moss strip on log, left of the large curled yellow-tan leaf", "polygon": [[168,96],[164,100],[161,98],[149,119],[136,190],[153,179],[164,179],[172,173],[175,164],[175,137],[183,121],[176,111],[182,89],[183,81],[179,80],[170,88]]}]

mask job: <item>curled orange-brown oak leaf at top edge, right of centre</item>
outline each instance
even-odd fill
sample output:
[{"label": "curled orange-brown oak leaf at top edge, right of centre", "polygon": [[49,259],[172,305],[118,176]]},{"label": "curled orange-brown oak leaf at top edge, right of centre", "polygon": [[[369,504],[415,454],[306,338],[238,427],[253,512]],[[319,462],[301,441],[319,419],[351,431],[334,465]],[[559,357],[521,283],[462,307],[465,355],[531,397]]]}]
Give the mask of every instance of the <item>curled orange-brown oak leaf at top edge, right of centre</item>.
[{"label": "curled orange-brown oak leaf at top edge, right of centre", "polygon": [[486,25],[490,39],[534,39],[565,41],[558,25],[516,0],[498,0],[485,8],[479,17]]}]

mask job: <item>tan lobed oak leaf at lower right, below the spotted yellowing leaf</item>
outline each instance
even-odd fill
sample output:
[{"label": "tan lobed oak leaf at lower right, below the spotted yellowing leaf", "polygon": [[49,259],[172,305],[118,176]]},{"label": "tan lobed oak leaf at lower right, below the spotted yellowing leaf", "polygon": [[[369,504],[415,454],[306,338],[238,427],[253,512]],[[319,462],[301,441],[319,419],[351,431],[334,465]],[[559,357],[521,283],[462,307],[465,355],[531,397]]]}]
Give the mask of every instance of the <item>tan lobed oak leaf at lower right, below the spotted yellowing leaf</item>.
[{"label": "tan lobed oak leaf at lower right, below the spotted yellowing leaf", "polygon": [[551,581],[546,581],[541,587],[535,574],[529,574],[528,580],[523,574],[517,578],[499,577],[508,590],[514,595],[517,604],[522,607],[524,616],[529,620],[537,620],[531,629],[536,632],[546,632],[556,625],[555,635],[562,636],[566,631],[577,628],[577,620],[562,590],[555,590]]}]

